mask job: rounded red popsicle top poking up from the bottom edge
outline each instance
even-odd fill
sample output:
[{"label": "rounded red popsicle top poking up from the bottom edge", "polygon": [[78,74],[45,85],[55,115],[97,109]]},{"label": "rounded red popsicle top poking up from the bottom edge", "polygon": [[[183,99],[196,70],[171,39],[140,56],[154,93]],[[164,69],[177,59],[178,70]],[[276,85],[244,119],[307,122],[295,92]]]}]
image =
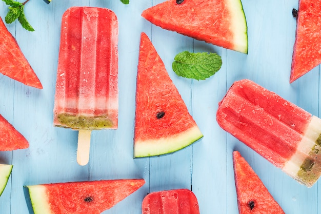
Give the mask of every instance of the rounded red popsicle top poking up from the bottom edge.
[{"label": "rounded red popsicle top poking up from the bottom edge", "polygon": [[149,193],[142,203],[143,214],[199,214],[195,194],[189,189]]}]

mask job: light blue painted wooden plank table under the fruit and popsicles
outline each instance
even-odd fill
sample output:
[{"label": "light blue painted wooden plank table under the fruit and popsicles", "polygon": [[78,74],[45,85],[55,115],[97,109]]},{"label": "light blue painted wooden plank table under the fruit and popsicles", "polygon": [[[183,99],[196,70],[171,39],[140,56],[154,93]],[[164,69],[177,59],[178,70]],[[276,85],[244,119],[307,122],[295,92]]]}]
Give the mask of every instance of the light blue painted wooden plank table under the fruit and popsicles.
[{"label": "light blue painted wooden plank table under the fruit and popsicles", "polygon": [[[321,213],[321,183],[300,185],[280,169],[222,130],[216,122],[218,102],[235,80],[251,79],[318,116],[319,67],[289,84],[298,0],[242,0],[247,18],[248,54],[193,40],[153,26],[141,13],[164,0],[30,0],[25,14],[35,29],[18,22],[6,24],[41,80],[44,89],[25,86],[0,74],[0,113],[30,143],[28,149],[0,152],[0,163],[13,164],[0,197],[0,213],[28,214],[24,185],[143,178],[146,184],[104,213],[141,213],[148,192],[188,188],[195,193],[200,213],[238,213],[232,151],[238,150],[286,213]],[[53,127],[53,103],[61,17],[71,6],[106,7],[119,21],[119,125],[117,130],[92,132],[90,161],[76,162],[77,132]],[[8,7],[0,2],[4,19]],[[135,87],[139,37],[146,32],[165,63],[190,113],[204,134],[192,146],[162,157],[133,159]],[[184,50],[216,52],[222,68],[205,81],[178,77],[171,68]]]}]

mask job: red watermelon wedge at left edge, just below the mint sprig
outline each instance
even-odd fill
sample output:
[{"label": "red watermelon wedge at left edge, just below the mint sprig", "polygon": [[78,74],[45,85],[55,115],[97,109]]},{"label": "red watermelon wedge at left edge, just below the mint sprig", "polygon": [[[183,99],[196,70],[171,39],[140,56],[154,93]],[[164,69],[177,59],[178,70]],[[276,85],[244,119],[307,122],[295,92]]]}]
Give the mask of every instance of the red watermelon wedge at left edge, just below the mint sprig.
[{"label": "red watermelon wedge at left edge, just below the mint sprig", "polygon": [[43,86],[0,17],[0,72],[27,86]]}]

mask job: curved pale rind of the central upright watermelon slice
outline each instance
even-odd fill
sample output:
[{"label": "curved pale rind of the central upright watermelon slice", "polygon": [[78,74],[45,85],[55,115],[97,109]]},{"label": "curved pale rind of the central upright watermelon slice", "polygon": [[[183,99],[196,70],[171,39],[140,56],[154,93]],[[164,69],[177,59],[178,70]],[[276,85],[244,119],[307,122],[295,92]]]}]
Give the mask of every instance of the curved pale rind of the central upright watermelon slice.
[{"label": "curved pale rind of the central upright watermelon slice", "polygon": [[197,126],[194,126],[166,138],[136,141],[134,144],[134,158],[172,153],[191,145],[201,138],[203,138],[202,132]]}]

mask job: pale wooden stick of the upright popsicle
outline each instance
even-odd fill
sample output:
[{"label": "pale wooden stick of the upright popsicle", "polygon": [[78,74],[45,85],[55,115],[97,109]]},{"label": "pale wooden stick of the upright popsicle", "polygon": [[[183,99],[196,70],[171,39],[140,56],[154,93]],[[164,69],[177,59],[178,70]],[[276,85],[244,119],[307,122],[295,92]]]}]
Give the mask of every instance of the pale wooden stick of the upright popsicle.
[{"label": "pale wooden stick of the upright popsicle", "polygon": [[79,130],[78,147],[77,147],[77,163],[85,166],[89,161],[91,130]]}]

